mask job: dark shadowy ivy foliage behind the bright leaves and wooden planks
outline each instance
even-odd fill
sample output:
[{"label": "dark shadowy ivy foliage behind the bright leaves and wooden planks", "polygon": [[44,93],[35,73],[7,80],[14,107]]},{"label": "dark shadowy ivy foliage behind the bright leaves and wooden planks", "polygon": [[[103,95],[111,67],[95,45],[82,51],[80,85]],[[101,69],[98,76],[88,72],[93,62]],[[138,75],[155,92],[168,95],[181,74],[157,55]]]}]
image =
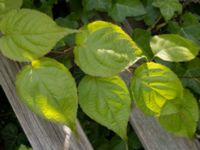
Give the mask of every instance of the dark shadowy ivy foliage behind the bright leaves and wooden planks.
[{"label": "dark shadowy ivy foliage behind the bright leaves and wooden planks", "polygon": [[[128,30],[127,26],[124,25],[128,21],[134,31],[131,35],[132,38],[149,59],[152,58],[149,40],[154,34],[180,34],[200,44],[200,1],[181,1],[182,12],[172,8],[175,12],[169,20],[163,17],[161,8],[152,5],[153,1],[138,0],[138,3],[131,3],[131,5],[128,5],[127,2],[127,11],[117,7],[119,0],[24,0],[22,7],[42,11],[52,17],[59,25],[70,28],[79,28],[93,20],[103,19],[125,26],[125,30]],[[129,13],[130,11],[135,12]],[[71,51],[73,46],[74,36],[72,35],[62,39],[48,55],[64,63],[70,69],[78,84],[84,74],[73,62]],[[154,61],[171,68],[181,78],[183,85],[189,88],[198,100],[200,99],[199,56],[186,63],[169,63],[160,59]],[[0,104],[0,150],[16,150],[19,149],[21,144],[30,146],[2,89],[0,89]],[[78,118],[95,149],[125,149],[124,141],[112,131],[89,119],[81,109],[78,111]],[[200,125],[196,133],[197,137],[199,133]],[[130,150],[143,149],[130,126],[128,127],[128,137]]]}]

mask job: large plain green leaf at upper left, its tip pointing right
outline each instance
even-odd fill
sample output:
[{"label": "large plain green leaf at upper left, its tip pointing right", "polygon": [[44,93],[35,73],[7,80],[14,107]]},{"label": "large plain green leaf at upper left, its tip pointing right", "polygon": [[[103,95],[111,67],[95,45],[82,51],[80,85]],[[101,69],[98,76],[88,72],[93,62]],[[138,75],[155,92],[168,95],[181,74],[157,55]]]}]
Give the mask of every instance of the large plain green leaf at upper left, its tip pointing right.
[{"label": "large plain green leaf at upper left, its tip pointing right", "polygon": [[32,61],[47,54],[67,34],[47,15],[30,9],[13,10],[0,22],[0,50],[10,59]]}]

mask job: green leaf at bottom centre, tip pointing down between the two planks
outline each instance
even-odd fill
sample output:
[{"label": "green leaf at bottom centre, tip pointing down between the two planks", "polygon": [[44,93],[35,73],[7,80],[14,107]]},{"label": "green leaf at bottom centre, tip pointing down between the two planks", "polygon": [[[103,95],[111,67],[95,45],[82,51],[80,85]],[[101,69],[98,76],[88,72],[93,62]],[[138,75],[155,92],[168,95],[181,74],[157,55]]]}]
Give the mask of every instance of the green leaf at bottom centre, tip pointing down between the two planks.
[{"label": "green leaf at bottom centre, tip pointing down between the two planks", "polygon": [[126,139],[131,99],[128,88],[118,77],[86,76],[78,87],[79,103],[93,120]]}]

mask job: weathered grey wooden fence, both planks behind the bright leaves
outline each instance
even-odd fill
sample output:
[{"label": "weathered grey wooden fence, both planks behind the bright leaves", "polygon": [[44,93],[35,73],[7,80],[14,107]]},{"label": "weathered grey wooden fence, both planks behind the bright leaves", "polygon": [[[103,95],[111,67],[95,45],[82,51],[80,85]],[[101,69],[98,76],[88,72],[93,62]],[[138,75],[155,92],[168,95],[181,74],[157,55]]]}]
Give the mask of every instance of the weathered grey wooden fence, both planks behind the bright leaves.
[{"label": "weathered grey wooden fence, both planks behind the bright leaves", "polygon": [[[0,84],[26,134],[33,150],[93,150],[81,125],[78,123],[79,139],[63,125],[41,119],[30,112],[18,99],[15,92],[15,76],[21,65],[0,54]],[[121,73],[129,84],[130,73]],[[175,137],[165,132],[158,122],[144,116],[134,106],[130,123],[142,142],[145,150],[200,150],[196,139]]]}]

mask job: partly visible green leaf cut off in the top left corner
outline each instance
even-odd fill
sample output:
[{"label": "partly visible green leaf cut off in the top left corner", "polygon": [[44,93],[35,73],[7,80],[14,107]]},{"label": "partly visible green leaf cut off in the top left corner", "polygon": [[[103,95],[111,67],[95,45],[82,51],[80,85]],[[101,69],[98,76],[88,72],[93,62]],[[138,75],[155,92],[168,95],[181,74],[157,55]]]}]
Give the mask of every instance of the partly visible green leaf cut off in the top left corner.
[{"label": "partly visible green leaf cut off in the top left corner", "polygon": [[0,0],[0,17],[11,9],[19,9],[23,0]]}]

